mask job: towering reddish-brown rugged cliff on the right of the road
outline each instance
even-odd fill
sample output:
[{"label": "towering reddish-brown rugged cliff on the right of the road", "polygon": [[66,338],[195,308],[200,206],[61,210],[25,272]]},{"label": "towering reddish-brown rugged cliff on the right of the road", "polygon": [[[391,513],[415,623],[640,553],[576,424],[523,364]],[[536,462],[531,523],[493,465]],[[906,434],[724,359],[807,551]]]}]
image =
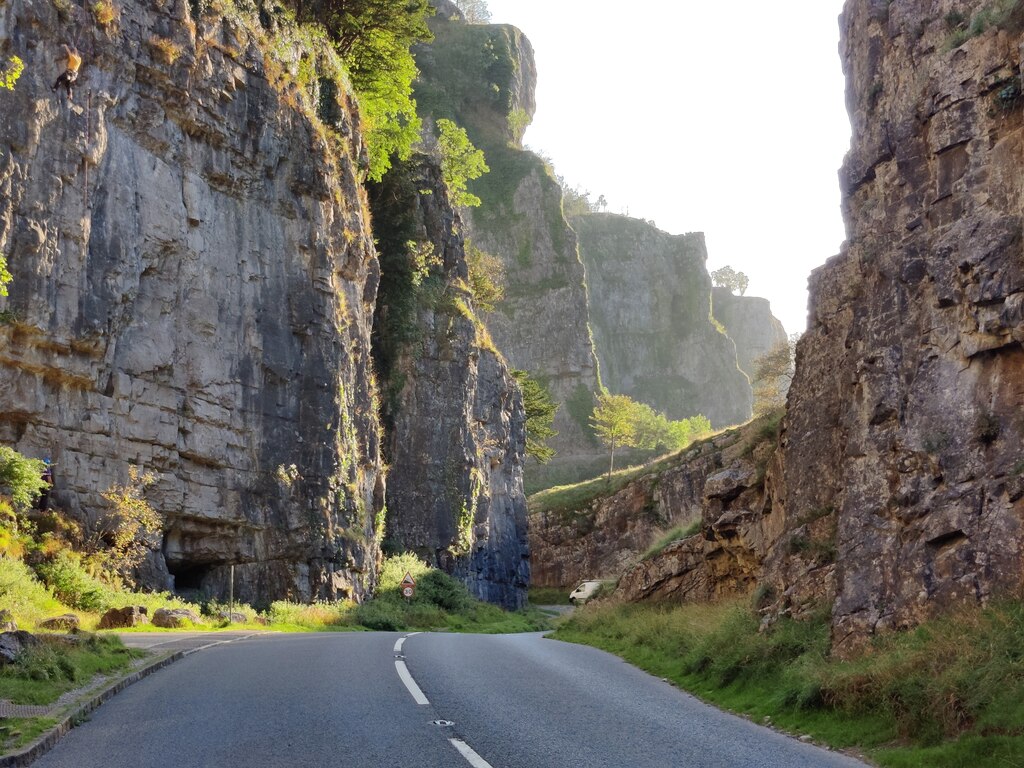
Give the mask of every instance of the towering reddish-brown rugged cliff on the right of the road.
[{"label": "towering reddish-brown rugged cliff on the right of the road", "polygon": [[804,605],[790,542],[831,519],[840,653],[1024,583],[1024,6],[990,5],[841,22],[849,241],[811,281],[766,574]]}]

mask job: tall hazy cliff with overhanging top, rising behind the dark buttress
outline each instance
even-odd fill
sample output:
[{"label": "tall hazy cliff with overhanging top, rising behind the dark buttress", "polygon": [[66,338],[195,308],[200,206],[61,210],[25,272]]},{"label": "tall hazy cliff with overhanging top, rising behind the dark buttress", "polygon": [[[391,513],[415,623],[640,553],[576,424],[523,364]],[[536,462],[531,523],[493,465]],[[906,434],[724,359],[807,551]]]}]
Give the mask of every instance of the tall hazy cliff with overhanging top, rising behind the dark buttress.
[{"label": "tall hazy cliff with overhanging top, rising behind the dark buttress", "polygon": [[532,49],[514,27],[463,24],[449,15],[451,4],[437,5],[436,39],[417,51],[417,101],[425,115],[465,128],[486,155],[490,172],[471,184],[483,203],[466,216],[467,237],[506,267],[505,299],[487,328],[509,365],[561,403],[551,440],[557,456],[531,462],[528,479],[535,487],[578,479],[581,464],[595,464],[596,474],[602,452],[588,418],[598,374],[577,237],[550,168],[519,147],[535,109]]}]

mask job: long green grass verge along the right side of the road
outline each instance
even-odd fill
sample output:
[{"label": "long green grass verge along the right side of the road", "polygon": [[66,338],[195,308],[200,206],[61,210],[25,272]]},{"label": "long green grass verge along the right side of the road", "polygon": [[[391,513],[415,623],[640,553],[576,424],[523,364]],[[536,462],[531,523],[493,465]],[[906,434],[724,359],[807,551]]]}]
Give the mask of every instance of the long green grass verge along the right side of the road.
[{"label": "long green grass verge along the right side of the road", "polygon": [[1024,604],[964,609],[828,655],[828,624],[759,632],[746,601],[589,605],[555,637],[616,653],[692,693],[883,766],[1024,765]]}]

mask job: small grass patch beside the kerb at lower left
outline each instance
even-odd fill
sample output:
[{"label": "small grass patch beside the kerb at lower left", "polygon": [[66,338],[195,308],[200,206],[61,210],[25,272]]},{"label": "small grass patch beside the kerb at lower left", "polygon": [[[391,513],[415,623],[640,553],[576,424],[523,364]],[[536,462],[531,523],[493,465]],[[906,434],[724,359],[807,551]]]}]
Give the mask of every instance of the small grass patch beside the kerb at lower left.
[{"label": "small grass patch beside the kerb at lower left", "polygon": [[0,668],[0,698],[25,705],[52,703],[93,676],[119,672],[145,655],[126,648],[116,637],[76,635],[71,641],[52,635],[38,637],[39,645],[23,651],[14,664]]}]

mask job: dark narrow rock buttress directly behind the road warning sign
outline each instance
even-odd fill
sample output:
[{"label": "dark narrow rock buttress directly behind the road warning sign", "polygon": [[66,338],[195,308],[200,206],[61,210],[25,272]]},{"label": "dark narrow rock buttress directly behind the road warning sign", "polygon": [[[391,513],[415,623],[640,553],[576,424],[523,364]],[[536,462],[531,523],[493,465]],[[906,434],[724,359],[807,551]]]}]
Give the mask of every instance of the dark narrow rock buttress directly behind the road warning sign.
[{"label": "dark narrow rock buttress directly behind the road warning sign", "polygon": [[375,344],[389,393],[386,544],[520,608],[525,413],[467,290],[462,221],[428,156],[393,169],[373,207],[383,266]]}]

